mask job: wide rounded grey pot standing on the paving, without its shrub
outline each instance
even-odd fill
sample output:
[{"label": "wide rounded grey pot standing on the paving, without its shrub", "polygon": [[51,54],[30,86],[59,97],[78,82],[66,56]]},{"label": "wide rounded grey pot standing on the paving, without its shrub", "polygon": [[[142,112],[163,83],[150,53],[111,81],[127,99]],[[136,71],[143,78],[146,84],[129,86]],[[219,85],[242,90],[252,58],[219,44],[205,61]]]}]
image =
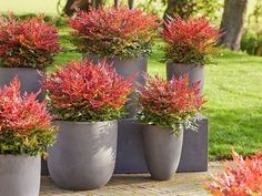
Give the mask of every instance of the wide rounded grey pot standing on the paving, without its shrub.
[{"label": "wide rounded grey pot standing on the paving, without its shrub", "polygon": [[104,186],[115,165],[117,121],[56,121],[54,125],[60,131],[57,143],[48,151],[48,167],[54,184],[71,190]]}]

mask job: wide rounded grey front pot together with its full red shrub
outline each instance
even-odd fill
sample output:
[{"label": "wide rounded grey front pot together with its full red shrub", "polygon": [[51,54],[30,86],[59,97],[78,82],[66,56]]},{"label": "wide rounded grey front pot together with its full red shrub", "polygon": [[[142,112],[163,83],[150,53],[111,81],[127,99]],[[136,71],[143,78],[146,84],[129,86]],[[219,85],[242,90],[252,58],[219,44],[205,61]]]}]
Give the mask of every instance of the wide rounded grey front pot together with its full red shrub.
[{"label": "wide rounded grey front pot together with its full red shrub", "polygon": [[50,147],[48,167],[66,189],[94,189],[111,178],[117,154],[118,123],[132,91],[105,62],[71,62],[47,75],[43,83],[60,126]]}]

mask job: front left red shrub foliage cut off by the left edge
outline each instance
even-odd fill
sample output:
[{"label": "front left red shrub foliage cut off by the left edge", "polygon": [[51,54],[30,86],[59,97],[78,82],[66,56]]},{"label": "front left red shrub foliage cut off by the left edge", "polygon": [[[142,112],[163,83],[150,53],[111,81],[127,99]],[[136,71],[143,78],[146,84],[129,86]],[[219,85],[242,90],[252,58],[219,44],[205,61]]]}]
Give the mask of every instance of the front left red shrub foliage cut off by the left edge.
[{"label": "front left red shrub foliage cut off by the left edge", "polygon": [[38,94],[21,95],[17,78],[0,89],[0,154],[42,155],[54,142],[56,127]]}]

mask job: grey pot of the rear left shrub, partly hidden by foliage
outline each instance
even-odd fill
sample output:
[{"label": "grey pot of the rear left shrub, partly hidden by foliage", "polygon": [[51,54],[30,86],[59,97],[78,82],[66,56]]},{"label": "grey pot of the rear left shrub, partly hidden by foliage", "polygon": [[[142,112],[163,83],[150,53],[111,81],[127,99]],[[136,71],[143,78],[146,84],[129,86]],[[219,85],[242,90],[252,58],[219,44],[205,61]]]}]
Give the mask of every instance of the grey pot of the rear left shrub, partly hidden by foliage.
[{"label": "grey pot of the rear left shrub, partly hidden by foliage", "polygon": [[[18,76],[21,82],[21,93],[36,93],[41,90],[42,76],[40,72],[43,72],[43,70],[33,68],[0,68],[0,86],[9,84],[14,76]],[[38,96],[40,101],[43,99],[44,92]]]}]

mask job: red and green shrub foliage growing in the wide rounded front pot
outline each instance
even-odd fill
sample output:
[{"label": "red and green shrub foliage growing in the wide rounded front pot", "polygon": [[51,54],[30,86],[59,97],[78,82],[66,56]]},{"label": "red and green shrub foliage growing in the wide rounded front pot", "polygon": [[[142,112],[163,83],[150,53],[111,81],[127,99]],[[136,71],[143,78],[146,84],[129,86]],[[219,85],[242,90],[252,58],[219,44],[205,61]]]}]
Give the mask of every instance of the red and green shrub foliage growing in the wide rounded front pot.
[{"label": "red and green shrub foliage growing in the wide rounded front pot", "polygon": [[105,61],[93,64],[84,60],[48,74],[43,85],[59,118],[97,122],[122,116],[132,79],[124,80]]}]

